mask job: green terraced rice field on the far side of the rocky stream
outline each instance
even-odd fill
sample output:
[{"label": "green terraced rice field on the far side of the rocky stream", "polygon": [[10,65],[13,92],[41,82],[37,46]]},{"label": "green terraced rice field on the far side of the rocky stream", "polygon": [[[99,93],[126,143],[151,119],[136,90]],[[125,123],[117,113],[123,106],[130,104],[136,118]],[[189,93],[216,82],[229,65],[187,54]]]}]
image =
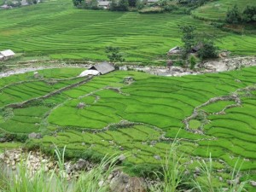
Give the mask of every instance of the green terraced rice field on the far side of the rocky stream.
[{"label": "green terraced rice field on the far side of the rocky stream", "polygon": [[217,35],[220,49],[240,55],[253,55],[256,49],[255,34],[222,32],[189,15],[81,10],[71,0],[0,10],[0,18],[0,49],[27,57],[107,60],[104,50],[112,45],[121,48],[126,61],[154,62],[181,44],[178,26],[184,24]]}]

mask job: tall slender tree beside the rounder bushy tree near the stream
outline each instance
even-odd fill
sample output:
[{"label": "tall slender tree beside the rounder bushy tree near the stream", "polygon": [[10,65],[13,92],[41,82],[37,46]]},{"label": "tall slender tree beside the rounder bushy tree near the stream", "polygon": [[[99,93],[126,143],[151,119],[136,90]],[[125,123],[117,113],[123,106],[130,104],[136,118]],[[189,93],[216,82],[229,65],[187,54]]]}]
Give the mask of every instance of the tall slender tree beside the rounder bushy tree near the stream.
[{"label": "tall slender tree beside the rounder bushy tree near the stream", "polygon": [[195,45],[195,26],[180,26],[179,28],[183,33],[183,56],[186,57]]}]

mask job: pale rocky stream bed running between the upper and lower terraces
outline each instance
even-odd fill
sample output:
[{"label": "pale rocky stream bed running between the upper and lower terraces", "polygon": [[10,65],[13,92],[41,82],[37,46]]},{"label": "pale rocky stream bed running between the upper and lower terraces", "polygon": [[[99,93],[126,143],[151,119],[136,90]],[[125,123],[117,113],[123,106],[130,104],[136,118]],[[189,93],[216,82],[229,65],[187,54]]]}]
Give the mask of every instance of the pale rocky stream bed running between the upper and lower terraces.
[{"label": "pale rocky stream bed running between the upper and lower terraces", "polygon": [[[35,72],[38,70],[43,69],[50,69],[50,68],[61,68],[61,67],[83,67],[88,68],[94,63],[89,64],[56,64],[53,63],[50,67],[49,66],[39,66],[39,67],[26,67],[26,68],[16,68],[12,69],[8,72],[0,73],[0,78],[9,77],[10,75],[14,74],[21,74],[27,72]],[[160,76],[183,76],[183,75],[197,75],[202,73],[218,73],[218,72],[225,72],[230,70],[235,70],[241,67],[251,67],[256,66],[256,56],[247,56],[247,57],[231,57],[226,59],[218,59],[214,61],[204,61],[199,64],[200,67],[195,67],[194,70],[190,70],[189,68],[183,67],[171,67],[169,70],[167,67],[160,67],[160,66],[138,66],[134,65],[134,63],[127,64],[124,66],[119,67],[120,70],[134,70],[134,71],[143,71],[145,73],[150,73],[154,75]]]}]

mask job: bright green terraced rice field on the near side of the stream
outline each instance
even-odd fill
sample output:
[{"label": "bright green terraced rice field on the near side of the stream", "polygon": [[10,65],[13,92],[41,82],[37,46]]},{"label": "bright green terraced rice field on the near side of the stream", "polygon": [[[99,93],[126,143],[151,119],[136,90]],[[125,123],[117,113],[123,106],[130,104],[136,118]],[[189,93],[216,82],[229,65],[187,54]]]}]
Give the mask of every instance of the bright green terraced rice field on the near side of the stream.
[{"label": "bright green terraced rice field on the near side of the stream", "polygon": [[[32,143],[42,148],[53,148],[55,143],[67,146],[70,156],[85,153],[92,158],[125,154],[125,162],[136,165],[160,165],[177,137],[184,163],[211,154],[231,167],[239,160],[241,170],[255,177],[256,67],[181,78],[117,71],[37,102],[7,108],[84,79],[73,79],[81,68],[52,70],[40,71],[41,79],[34,79],[32,73],[0,79],[1,96],[11,98],[1,100],[2,133],[41,132],[44,137]],[[127,76],[135,82],[125,84]],[[32,79],[37,81],[27,85]],[[55,84],[44,83],[49,79]],[[31,91],[38,82],[42,85]],[[84,108],[78,108],[81,102]],[[199,113],[193,116],[195,108]],[[187,127],[184,120],[191,115]],[[224,167],[217,162],[215,166]]]}]

